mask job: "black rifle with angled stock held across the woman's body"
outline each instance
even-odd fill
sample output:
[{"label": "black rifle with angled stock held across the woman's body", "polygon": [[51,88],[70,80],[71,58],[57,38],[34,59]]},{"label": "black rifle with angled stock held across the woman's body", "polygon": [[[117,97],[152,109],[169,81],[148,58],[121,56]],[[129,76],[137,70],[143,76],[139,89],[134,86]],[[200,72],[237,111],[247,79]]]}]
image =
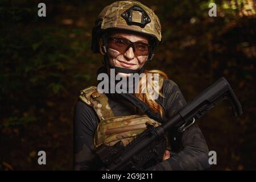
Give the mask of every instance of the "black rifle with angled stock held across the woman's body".
[{"label": "black rifle with angled stock held across the woman's body", "polygon": [[242,106],[224,77],[210,85],[191,102],[180,109],[171,119],[158,127],[151,125],[127,146],[121,141],[114,146],[101,144],[96,151],[103,163],[101,170],[142,170],[162,162],[166,139],[164,134],[174,126],[183,132],[195,119],[208,113],[217,102],[227,99],[235,117],[242,114]]}]

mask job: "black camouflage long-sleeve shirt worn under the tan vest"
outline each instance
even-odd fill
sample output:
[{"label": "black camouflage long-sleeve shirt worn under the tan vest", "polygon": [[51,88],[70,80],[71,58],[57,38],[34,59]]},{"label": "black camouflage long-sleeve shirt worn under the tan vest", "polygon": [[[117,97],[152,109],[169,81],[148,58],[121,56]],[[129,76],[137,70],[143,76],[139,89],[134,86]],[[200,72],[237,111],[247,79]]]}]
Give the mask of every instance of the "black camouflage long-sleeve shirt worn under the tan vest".
[{"label": "black camouflage long-sleeve shirt worn under the tan vest", "polygon": [[[171,118],[187,104],[179,87],[172,80],[164,80],[162,93],[164,97],[159,96],[159,101],[166,111],[167,118]],[[114,100],[109,97],[109,105],[116,116],[137,114],[135,107],[127,101]],[[97,169],[98,163],[94,152],[93,137],[98,122],[100,119],[93,108],[79,101],[75,108],[74,117],[73,167],[75,170]],[[207,143],[195,123],[184,131],[182,150],[148,170],[203,170],[208,168]]]}]

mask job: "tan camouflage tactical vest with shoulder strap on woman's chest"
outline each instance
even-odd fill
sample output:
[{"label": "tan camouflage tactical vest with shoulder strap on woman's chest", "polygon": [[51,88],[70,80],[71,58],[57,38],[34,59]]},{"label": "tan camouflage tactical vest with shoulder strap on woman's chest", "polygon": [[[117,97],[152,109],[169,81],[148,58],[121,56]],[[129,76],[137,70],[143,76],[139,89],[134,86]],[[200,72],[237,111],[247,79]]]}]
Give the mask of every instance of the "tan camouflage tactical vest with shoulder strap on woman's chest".
[{"label": "tan camouflage tactical vest with shoulder strap on woman's chest", "polygon": [[[159,76],[159,91],[162,89],[164,78]],[[126,146],[137,135],[147,129],[147,125],[157,127],[159,122],[147,117],[147,115],[128,115],[117,117],[113,114],[109,106],[108,97],[104,93],[98,93],[96,86],[90,86],[81,90],[80,100],[93,107],[97,113],[100,123],[94,134],[94,147],[102,143],[106,146],[113,146],[121,140],[123,146]]]}]

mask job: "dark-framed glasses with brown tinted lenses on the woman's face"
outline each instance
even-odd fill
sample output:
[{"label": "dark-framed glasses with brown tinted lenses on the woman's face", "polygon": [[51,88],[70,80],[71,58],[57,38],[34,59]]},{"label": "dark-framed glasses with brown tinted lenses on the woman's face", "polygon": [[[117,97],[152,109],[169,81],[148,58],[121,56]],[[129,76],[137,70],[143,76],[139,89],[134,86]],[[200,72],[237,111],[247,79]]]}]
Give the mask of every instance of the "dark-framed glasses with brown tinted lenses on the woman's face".
[{"label": "dark-framed glasses with brown tinted lenses on the woman's face", "polygon": [[146,43],[131,42],[128,39],[119,37],[108,37],[107,47],[115,49],[122,54],[132,47],[135,56],[147,56],[150,50],[150,46]]}]

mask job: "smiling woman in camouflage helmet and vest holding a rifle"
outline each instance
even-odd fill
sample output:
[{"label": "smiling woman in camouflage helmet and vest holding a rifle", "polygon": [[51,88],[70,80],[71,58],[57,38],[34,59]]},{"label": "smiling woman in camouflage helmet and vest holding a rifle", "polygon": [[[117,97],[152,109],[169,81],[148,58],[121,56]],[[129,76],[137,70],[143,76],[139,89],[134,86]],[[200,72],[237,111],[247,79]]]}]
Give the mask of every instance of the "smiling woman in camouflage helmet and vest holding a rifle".
[{"label": "smiling woman in camouflage helmet and vest holding a rifle", "polygon": [[[96,170],[101,168],[96,149],[101,144],[113,146],[121,141],[125,146],[136,136],[131,133],[112,133],[104,135],[102,130],[110,119],[120,121],[119,125],[129,125],[130,118],[136,122],[147,121],[164,122],[179,111],[186,101],[179,87],[174,81],[168,80],[161,71],[146,71],[144,65],[152,59],[154,47],[161,41],[161,26],[158,17],[148,7],[136,1],[119,1],[105,7],[98,16],[93,28],[92,50],[104,55],[104,66],[99,69],[98,75],[110,76],[114,69],[115,75],[130,77],[133,73],[158,73],[158,85],[154,92],[158,98],[152,98],[147,87],[143,87],[141,79],[138,85],[128,84],[126,89],[134,86],[134,97],[143,101],[143,104],[154,113],[155,120],[145,117],[141,108],[125,97],[118,94],[102,93],[96,87],[82,90],[80,100],[75,108],[74,118],[74,169]],[[143,80],[143,81],[142,81]],[[147,82],[149,84],[150,81]],[[115,88],[118,81],[109,82],[108,89]],[[141,86],[141,87],[139,87]],[[125,88],[125,87],[123,87]],[[106,89],[106,87],[105,87]],[[106,89],[106,90],[108,90]],[[142,92],[144,91],[144,92]],[[126,96],[127,94],[123,94]],[[144,117],[144,118],[143,118]],[[142,119],[143,118],[143,119]],[[142,129],[142,128],[141,128]],[[143,130],[143,129],[142,129]],[[139,130],[139,131],[142,131]],[[137,132],[138,130],[136,130]],[[115,139],[113,139],[113,135]],[[118,137],[116,137],[118,136]],[[122,137],[122,138],[120,138]],[[118,140],[116,139],[118,138]],[[193,124],[183,134],[173,129],[169,132],[168,144],[162,162],[147,168],[148,170],[202,170],[209,168],[208,147],[199,127]]]}]

